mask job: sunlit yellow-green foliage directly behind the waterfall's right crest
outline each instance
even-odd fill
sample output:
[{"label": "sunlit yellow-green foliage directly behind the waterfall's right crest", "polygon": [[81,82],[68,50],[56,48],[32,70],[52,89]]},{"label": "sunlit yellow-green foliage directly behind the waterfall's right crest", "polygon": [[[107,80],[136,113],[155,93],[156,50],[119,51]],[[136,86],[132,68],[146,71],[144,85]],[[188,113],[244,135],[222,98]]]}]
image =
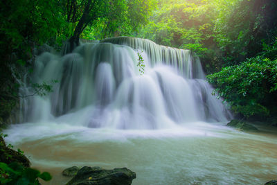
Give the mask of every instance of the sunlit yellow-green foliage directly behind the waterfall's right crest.
[{"label": "sunlit yellow-green foliage directly behind the waterfall's right crest", "polygon": [[215,20],[219,8],[223,4],[224,7],[233,6],[234,1],[159,1],[149,24],[137,36],[158,44],[189,49],[199,56],[207,73],[219,71],[223,62],[214,40]]}]

